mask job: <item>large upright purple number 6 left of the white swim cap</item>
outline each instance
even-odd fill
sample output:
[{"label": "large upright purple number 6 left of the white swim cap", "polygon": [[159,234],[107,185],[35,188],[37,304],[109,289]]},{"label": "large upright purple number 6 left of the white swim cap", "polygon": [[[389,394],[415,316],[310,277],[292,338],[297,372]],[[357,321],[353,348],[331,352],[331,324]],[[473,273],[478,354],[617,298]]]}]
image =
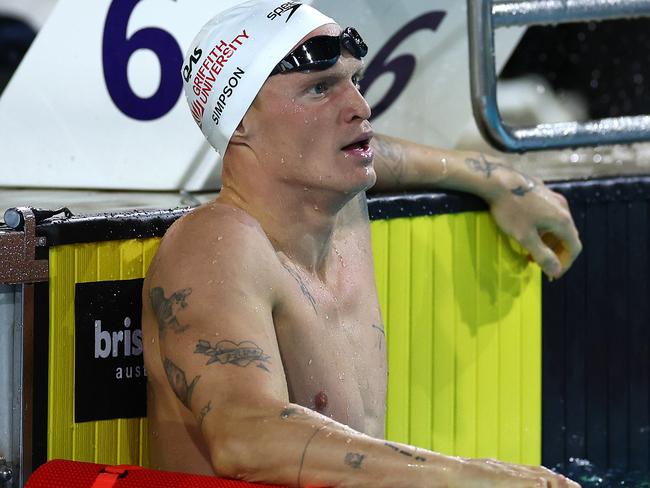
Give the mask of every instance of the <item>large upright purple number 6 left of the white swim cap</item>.
[{"label": "large upright purple number 6 left of the white swim cap", "polygon": [[[113,0],[104,24],[102,65],[108,93],[115,106],[136,120],[154,120],[169,112],[183,89],[180,66],[183,54],[169,32],[155,27],[126,37],[129,17],[140,0]],[[129,58],[138,49],[152,51],[160,62],[160,85],[149,98],[133,92],[127,75]]]}]

